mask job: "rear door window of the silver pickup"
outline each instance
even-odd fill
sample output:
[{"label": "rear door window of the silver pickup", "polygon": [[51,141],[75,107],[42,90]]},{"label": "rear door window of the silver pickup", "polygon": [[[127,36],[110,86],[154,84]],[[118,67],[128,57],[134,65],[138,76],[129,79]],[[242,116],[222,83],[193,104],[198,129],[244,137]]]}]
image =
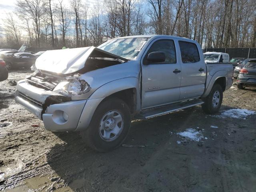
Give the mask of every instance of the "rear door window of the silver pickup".
[{"label": "rear door window of the silver pickup", "polygon": [[196,44],[179,41],[179,45],[183,63],[195,63],[200,61],[200,56]]}]

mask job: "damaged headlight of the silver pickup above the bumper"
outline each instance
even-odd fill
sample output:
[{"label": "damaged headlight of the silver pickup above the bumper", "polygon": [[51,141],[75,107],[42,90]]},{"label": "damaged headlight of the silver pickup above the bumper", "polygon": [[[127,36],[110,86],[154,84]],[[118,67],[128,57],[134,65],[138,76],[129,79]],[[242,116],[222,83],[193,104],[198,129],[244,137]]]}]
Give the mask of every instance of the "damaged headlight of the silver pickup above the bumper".
[{"label": "damaged headlight of the silver pickup above the bumper", "polygon": [[85,80],[80,80],[76,77],[67,77],[66,80],[60,82],[55,88],[54,92],[62,93],[64,95],[79,95],[90,91],[90,86]]}]

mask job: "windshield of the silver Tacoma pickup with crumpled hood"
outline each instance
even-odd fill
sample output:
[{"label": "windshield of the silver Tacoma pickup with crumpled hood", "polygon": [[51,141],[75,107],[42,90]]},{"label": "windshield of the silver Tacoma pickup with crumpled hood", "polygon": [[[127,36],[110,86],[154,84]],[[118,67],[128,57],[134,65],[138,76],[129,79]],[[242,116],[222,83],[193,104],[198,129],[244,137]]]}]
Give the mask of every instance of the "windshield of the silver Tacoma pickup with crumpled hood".
[{"label": "windshield of the silver Tacoma pickup with crumpled hood", "polygon": [[126,59],[135,59],[149,38],[111,39],[98,46],[99,49]]}]

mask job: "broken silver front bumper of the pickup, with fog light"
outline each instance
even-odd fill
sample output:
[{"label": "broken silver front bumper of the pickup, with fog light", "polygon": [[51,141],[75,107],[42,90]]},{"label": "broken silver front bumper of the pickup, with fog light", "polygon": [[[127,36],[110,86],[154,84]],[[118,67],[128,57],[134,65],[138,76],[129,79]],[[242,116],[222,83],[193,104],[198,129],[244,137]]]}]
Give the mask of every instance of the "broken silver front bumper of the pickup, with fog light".
[{"label": "broken silver front bumper of the pickup, with fog light", "polygon": [[37,88],[21,80],[16,87],[15,102],[42,119],[47,130],[76,130],[87,100],[47,104],[47,98],[52,96],[63,97],[61,94]]}]

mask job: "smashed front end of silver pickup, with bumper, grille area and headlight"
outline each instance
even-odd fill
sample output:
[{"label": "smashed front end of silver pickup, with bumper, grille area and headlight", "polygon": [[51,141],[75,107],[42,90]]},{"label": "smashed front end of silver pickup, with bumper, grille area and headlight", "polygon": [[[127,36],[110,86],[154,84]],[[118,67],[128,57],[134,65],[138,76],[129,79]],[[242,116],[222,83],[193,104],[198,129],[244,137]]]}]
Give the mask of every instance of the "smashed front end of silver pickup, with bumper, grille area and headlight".
[{"label": "smashed front end of silver pickup, with bumper, grille area and headlight", "polygon": [[[79,82],[79,83],[78,83]],[[87,100],[72,100],[74,94],[82,94],[89,86],[75,77],[54,77],[37,73],[18,82],[16,103],[42,119],[50,131],[76,129]]]}]

